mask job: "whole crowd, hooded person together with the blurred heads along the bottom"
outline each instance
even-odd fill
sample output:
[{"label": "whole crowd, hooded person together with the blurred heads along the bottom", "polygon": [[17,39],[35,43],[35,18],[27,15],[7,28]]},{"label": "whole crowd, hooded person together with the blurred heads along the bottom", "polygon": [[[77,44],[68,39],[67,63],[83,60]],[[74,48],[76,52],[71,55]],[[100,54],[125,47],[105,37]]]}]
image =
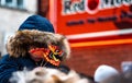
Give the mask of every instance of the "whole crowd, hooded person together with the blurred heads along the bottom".
[{"label": "whole crowd, hooded person together with the blurred heads along the bottom", "polygon": [[122,62],[122,72],[101,64],[94,76],[64,66],[70,47],[56,34],[51,22],[29,16],[7,42],[8,54],[0,60],[0,83],[132,83],[132,62]]}]

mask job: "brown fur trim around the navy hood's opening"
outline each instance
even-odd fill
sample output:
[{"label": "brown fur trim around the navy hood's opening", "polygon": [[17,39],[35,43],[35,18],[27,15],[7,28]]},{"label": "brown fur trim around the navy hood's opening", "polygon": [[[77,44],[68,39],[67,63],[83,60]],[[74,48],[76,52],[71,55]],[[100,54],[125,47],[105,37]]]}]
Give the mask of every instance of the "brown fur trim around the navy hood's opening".
[{"label": "brown fur trim around the navy hood's opening", "polygon": [[65,36],[35,29],[18,31],[8,39],[7,51],[11,57],[24,57],[30,46],[47,47],[48,44],[58,46],[64,51],[64,59],[69,57],[70,48]]}]

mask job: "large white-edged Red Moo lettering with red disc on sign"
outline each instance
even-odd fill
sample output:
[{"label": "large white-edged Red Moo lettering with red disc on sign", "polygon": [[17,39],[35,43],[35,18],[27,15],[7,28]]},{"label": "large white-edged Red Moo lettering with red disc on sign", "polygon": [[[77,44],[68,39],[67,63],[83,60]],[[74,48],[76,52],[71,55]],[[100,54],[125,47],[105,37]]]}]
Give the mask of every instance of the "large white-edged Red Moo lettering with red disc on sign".
[{"label": "large white-edged Red Moo lettering with red disc on sign", "polygon": [[62,14],[77,13],[95,14],[100,10],[131,5],[132,0],[62,0]]}]

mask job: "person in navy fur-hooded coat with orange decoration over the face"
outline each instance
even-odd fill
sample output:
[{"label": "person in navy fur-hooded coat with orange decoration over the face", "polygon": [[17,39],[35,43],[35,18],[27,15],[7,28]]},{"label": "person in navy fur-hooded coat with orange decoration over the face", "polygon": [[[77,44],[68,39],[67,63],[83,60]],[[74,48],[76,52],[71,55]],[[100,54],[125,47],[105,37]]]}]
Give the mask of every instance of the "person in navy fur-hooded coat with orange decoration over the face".
[{"label": "person in navy fur-hooded coat with orange decoration over the face", "polygon": [[7,42],[8,54],[0,60],[0,83],[10,83],[15,71],[24,68],[54,68],[63,72],[63,62],[69,57],[68,40],[55,34],[51,22],[40,15],[29,16]]}]

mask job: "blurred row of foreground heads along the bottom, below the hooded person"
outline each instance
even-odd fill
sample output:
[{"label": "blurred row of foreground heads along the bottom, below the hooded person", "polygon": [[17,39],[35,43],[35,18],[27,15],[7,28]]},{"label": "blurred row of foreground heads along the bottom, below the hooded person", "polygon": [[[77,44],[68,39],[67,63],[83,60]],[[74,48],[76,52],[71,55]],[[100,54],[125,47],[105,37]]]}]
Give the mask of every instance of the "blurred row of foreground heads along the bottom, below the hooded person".
[{"label": "blurred row of foreground heads along the bottom, below the hooded person", "polygon": [[[125,70],[124,70],[125,69]],[[64,73],[56,69],[41,68],[13,73],[11,83],[132,83],[132,62],[127,63],[119,72],[111,66],[101,64],[95,71],[94,79],[82,76],[70,70]]]}]

